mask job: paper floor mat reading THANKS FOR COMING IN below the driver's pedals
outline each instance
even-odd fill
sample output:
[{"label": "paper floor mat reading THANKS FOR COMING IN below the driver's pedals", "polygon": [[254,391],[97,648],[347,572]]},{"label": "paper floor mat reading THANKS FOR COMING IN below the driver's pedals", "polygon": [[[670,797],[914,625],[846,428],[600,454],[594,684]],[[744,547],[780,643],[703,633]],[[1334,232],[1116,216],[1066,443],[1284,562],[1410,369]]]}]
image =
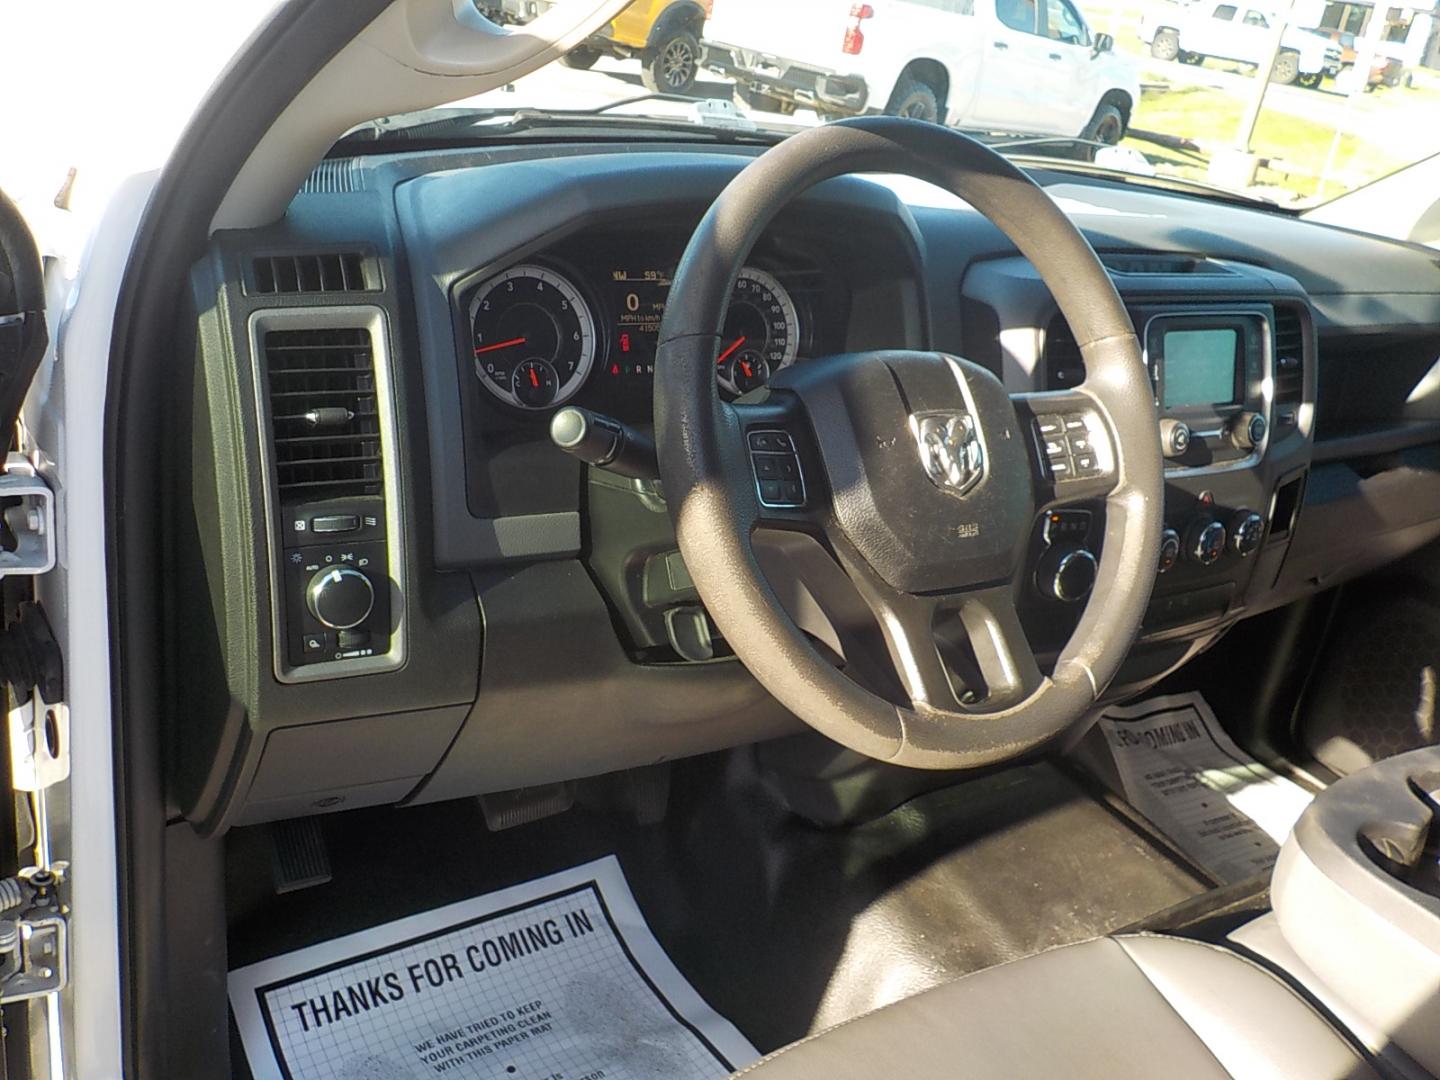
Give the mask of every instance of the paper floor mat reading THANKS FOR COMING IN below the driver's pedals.
[{"label": "paper floor mat reading THANKS FOR COMING IN below the driver's pedals", "polygon": [[230,972],[256,1080],[690,1080],[755,1047],[696,994],[619,863]]}]

